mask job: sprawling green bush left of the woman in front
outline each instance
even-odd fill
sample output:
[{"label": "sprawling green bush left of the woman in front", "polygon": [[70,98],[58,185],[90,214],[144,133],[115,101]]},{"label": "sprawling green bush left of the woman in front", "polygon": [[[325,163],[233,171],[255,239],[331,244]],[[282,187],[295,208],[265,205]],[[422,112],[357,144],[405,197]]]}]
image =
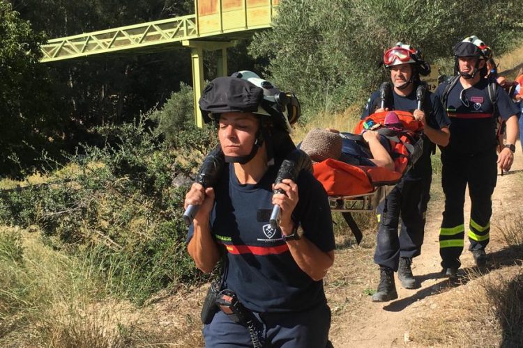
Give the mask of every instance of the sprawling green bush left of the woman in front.
[{"label": "sprawling green bush left of the woman in front", "polygon": [[[83,155],[70,157],[78,168],[73,174],[0,193],[2,223],[38,225],[47,244],[96,260],[112,292],[138,303],[199,280],[185,250],[183,198],[195,165],[214,144],[209,130],[182,126],[177,139],[183,148],[170,148],[148,123],[144,117],[100,128],[105,147],[86,146]],[[177,176],[185,185],[172,185]]]}]

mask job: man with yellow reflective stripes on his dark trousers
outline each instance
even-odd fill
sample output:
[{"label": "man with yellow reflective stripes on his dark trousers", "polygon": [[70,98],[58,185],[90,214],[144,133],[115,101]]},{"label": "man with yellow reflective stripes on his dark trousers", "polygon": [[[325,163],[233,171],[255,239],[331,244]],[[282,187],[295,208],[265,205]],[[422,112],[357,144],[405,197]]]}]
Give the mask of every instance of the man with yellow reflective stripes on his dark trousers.
[{"label": "man with yellow reflective stripes on his dark trousers", "polygon": [[[517,108],[503,88],[494,88],[487,75],[490,47],[477,36],[469,36],[453,48],[455,74],[436,91],[451,120],[452,138],[441,151],[441,185],[445,210],[439,235],[444,274],[455,278],[464,246],[463,206],[469,186],[471,217],[469,250],[478,267],[487,262],[485,246],[490,239],[492,193],[497,165],[508,171],[513,163],[517,136]],[[506,121],[506,145],[497,155],[497,119]]]}]

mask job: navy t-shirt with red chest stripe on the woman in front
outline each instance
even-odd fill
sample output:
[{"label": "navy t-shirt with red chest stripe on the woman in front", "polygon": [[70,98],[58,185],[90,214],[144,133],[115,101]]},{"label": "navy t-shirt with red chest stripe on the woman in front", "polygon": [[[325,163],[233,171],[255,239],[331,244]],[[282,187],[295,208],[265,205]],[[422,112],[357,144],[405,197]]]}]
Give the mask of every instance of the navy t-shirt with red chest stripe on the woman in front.
[{"label": "navy t-shirt with red chest stripe on the woman in front", "polygon": [[[278,172],[269,167],[257,184],[240,184],[234,166],[226,166],[215,189],[211,234],[228,261],[225,287],[256,312],[290,312],[326,301],[323,281],[314,281],[292,258],[281,230],[269,224],[272,184]],[[298,204],[292,214],[304,236],[321,251],[335,248],[331,209],[324,188],[302,171],[296,180]],[[192,237],[192,227],[188,240]]]}]

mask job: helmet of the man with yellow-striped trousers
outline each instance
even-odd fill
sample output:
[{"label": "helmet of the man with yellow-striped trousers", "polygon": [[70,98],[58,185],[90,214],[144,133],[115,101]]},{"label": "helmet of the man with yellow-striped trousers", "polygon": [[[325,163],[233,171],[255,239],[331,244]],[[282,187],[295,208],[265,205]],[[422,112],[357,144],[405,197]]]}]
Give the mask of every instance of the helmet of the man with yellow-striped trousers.
[{"label": "helmet of the man with yellow-striped trousers", "polygon": [[[482,77],[487,75],[486,63],[483,68],[479,69],[479,62],[482,59],[485,61],[492,59],[492,49],[490,49],[490,47],[488,47],[485,42],[480,40],[476,35],[469,36],[464,38],[461,42],[458,42],[453,47],[453,51],[455,56],[455,73],[459,73],[465,79],[472,79],[478,71]],[[460,66],[458,64],[458,59],[460,57],[477,58],[476,65],[474,66],[474,70],[471,74],[460,71]]]}]

